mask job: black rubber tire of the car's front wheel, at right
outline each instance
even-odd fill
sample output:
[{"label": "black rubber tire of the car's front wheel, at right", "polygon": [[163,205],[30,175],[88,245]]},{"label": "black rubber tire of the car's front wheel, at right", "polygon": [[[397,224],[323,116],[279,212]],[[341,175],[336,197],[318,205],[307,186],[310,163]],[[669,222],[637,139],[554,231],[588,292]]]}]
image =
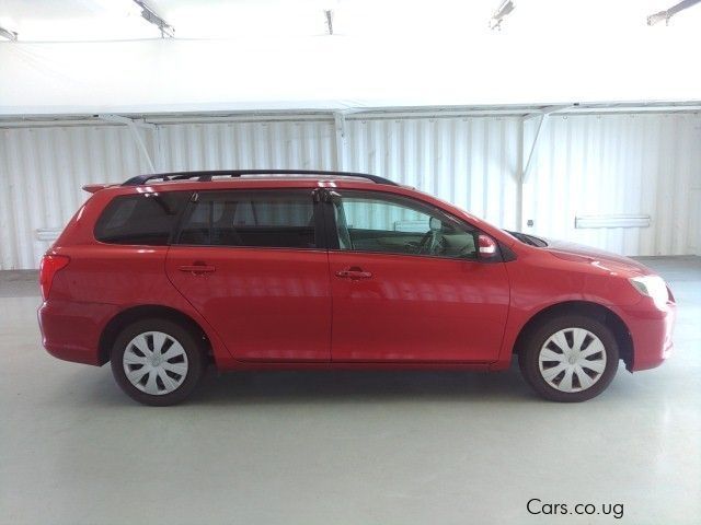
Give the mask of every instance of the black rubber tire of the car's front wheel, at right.
[{"label": "black rubber tire of the car's front wheel, at right", "polygon": [[[543,373],[547,373],[548,370],[545,369],[545,364],[543,364],[543,369],[545,370],[545,372],[541,373],[540,371],[540,352],[550,337],[555,335],[560,330],[565,330],[564,337],[566,338],[567,345],[575,346],[570,342],[572,341],[573,332],[568,331],[568,329],[574,328],[583,328],[600,340],[604,347],[606,364],[604,371],[598,374],[587,369],[588,364],[585,364],[584,369],[588,371],[587,375],[589,373],[596,374],[596,381],[594,382],[594,384],[584,389],[578,389],[575,392],[563,392],[559,389],[559,387],[552,386],[545,380],[545,377],[543,377]],[[570,337],[567,337],[567,334],[570,335]],[[589,341],[590,345],[594,339],[591,339],[589,336],[585,338],[584,343],[582,345],[585,351],[587,348],[587,341]],[[558,349],[560,347],[551,346],[551,348],[553,348],[555,353],[558,353]],[[568,348],[566,351],[571,350],[572,349]],[[564,360],[565,353],[564,351],[562,353]],[[600,360],[600,353],[601,352],[597,352],[588,359]],[[548,319],[541,326],[537,327],[530,332],[518,354],[518,364],[521,370],[521,374],[524,375],[526,382],[531,386],[531,388],[533,388],[537,394],[544,397],[545,399],[560,402],[586,401],[587,399],[591,399],[593,397],[601,394],[613,380],[613,376],[616,375],[616,372],[618,370],[618,361],[619,348],[618,343],[616,342],[616,337],[611,332],[610,328],[608,328],[604,323],[584,315],[563,315]],[[549,366],[555,366],[554,362],[547,362]],[[566,368],[567,362],[563,363],[563,365]],[[553,368],[553,370],[555,369]],[[575,375],[578,373],[581,372],[575,372]],[[563,371],[561,374],[564,377],[565,371]],[[560,376],[561,374],[558,374],[558,376]],[[558,376],[555,376],[552,381],[556,382]],[[586,377],[584,377],[584,380],[586,380]],[[560,381],[562,382],[563,380],[561,378]],[[574,380],[573,375],[571,374],[570,381],[575,388],[577,387],[577,385],[579,385],[579,388],[583,388],[583,383],[579,383],[578,376],[576,380]]]}]

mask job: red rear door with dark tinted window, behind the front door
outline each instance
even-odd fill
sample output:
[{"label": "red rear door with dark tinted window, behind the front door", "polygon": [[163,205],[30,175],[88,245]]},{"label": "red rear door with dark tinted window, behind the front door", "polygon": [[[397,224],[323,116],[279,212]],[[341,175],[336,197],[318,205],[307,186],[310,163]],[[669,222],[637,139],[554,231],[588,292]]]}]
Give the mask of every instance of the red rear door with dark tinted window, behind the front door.
[{"label": "red rear door with dark tinted window, behind the front door", "polygon": [[315,208],[311,188],[193,197],[166,272],[235,359],[330,361],[329,262]]}]

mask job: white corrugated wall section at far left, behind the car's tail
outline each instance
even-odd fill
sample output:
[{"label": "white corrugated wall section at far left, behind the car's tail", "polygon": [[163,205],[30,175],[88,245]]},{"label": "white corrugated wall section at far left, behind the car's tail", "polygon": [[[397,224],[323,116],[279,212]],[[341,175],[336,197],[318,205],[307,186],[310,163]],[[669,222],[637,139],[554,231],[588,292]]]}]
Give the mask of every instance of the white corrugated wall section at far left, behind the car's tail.
[{"label": "white corrugated wall section at far left, behind the car's tail", "polygon": [[36,230],[62,228],[83,185],[146,170],[124,126],[0,129],[0,269],[38,266],[50,243]]}]

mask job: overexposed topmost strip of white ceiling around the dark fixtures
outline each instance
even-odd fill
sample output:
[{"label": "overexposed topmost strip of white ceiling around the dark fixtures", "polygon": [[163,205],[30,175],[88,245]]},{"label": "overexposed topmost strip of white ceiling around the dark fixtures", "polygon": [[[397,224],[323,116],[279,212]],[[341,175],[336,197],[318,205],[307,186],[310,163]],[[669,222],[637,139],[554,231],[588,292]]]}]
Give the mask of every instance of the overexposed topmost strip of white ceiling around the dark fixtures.
[{"label": "overexposed topmost strip of white ceiling around the dark fixtures", "polygon": [[[484,35],[501,0],[146,0],[175,28],[177,38],[322,36],[324,10],[334,34],[398,38]],[[501,34],[516,37],[588,38],[630,34],[698,35],[701,3],[669,25],[646,25],[650,14],[677,0],[515,0]],[[159,38],[133,0],[0,0],[0,27],[22,42],[85,42]],[[622,39],[621,39],[622,38]]]}]

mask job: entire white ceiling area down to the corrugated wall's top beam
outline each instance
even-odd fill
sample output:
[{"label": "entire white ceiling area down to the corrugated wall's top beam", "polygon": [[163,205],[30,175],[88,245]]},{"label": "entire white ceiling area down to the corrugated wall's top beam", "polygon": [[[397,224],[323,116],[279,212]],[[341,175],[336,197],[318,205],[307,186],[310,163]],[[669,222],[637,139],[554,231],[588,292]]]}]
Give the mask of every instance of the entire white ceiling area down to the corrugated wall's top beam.
[{"label": "entire white ceiling area down to the corrugated wall's top beam", "polygon": [[146,1],[0,0],[0,115],[701,100],[701,2]]}]

